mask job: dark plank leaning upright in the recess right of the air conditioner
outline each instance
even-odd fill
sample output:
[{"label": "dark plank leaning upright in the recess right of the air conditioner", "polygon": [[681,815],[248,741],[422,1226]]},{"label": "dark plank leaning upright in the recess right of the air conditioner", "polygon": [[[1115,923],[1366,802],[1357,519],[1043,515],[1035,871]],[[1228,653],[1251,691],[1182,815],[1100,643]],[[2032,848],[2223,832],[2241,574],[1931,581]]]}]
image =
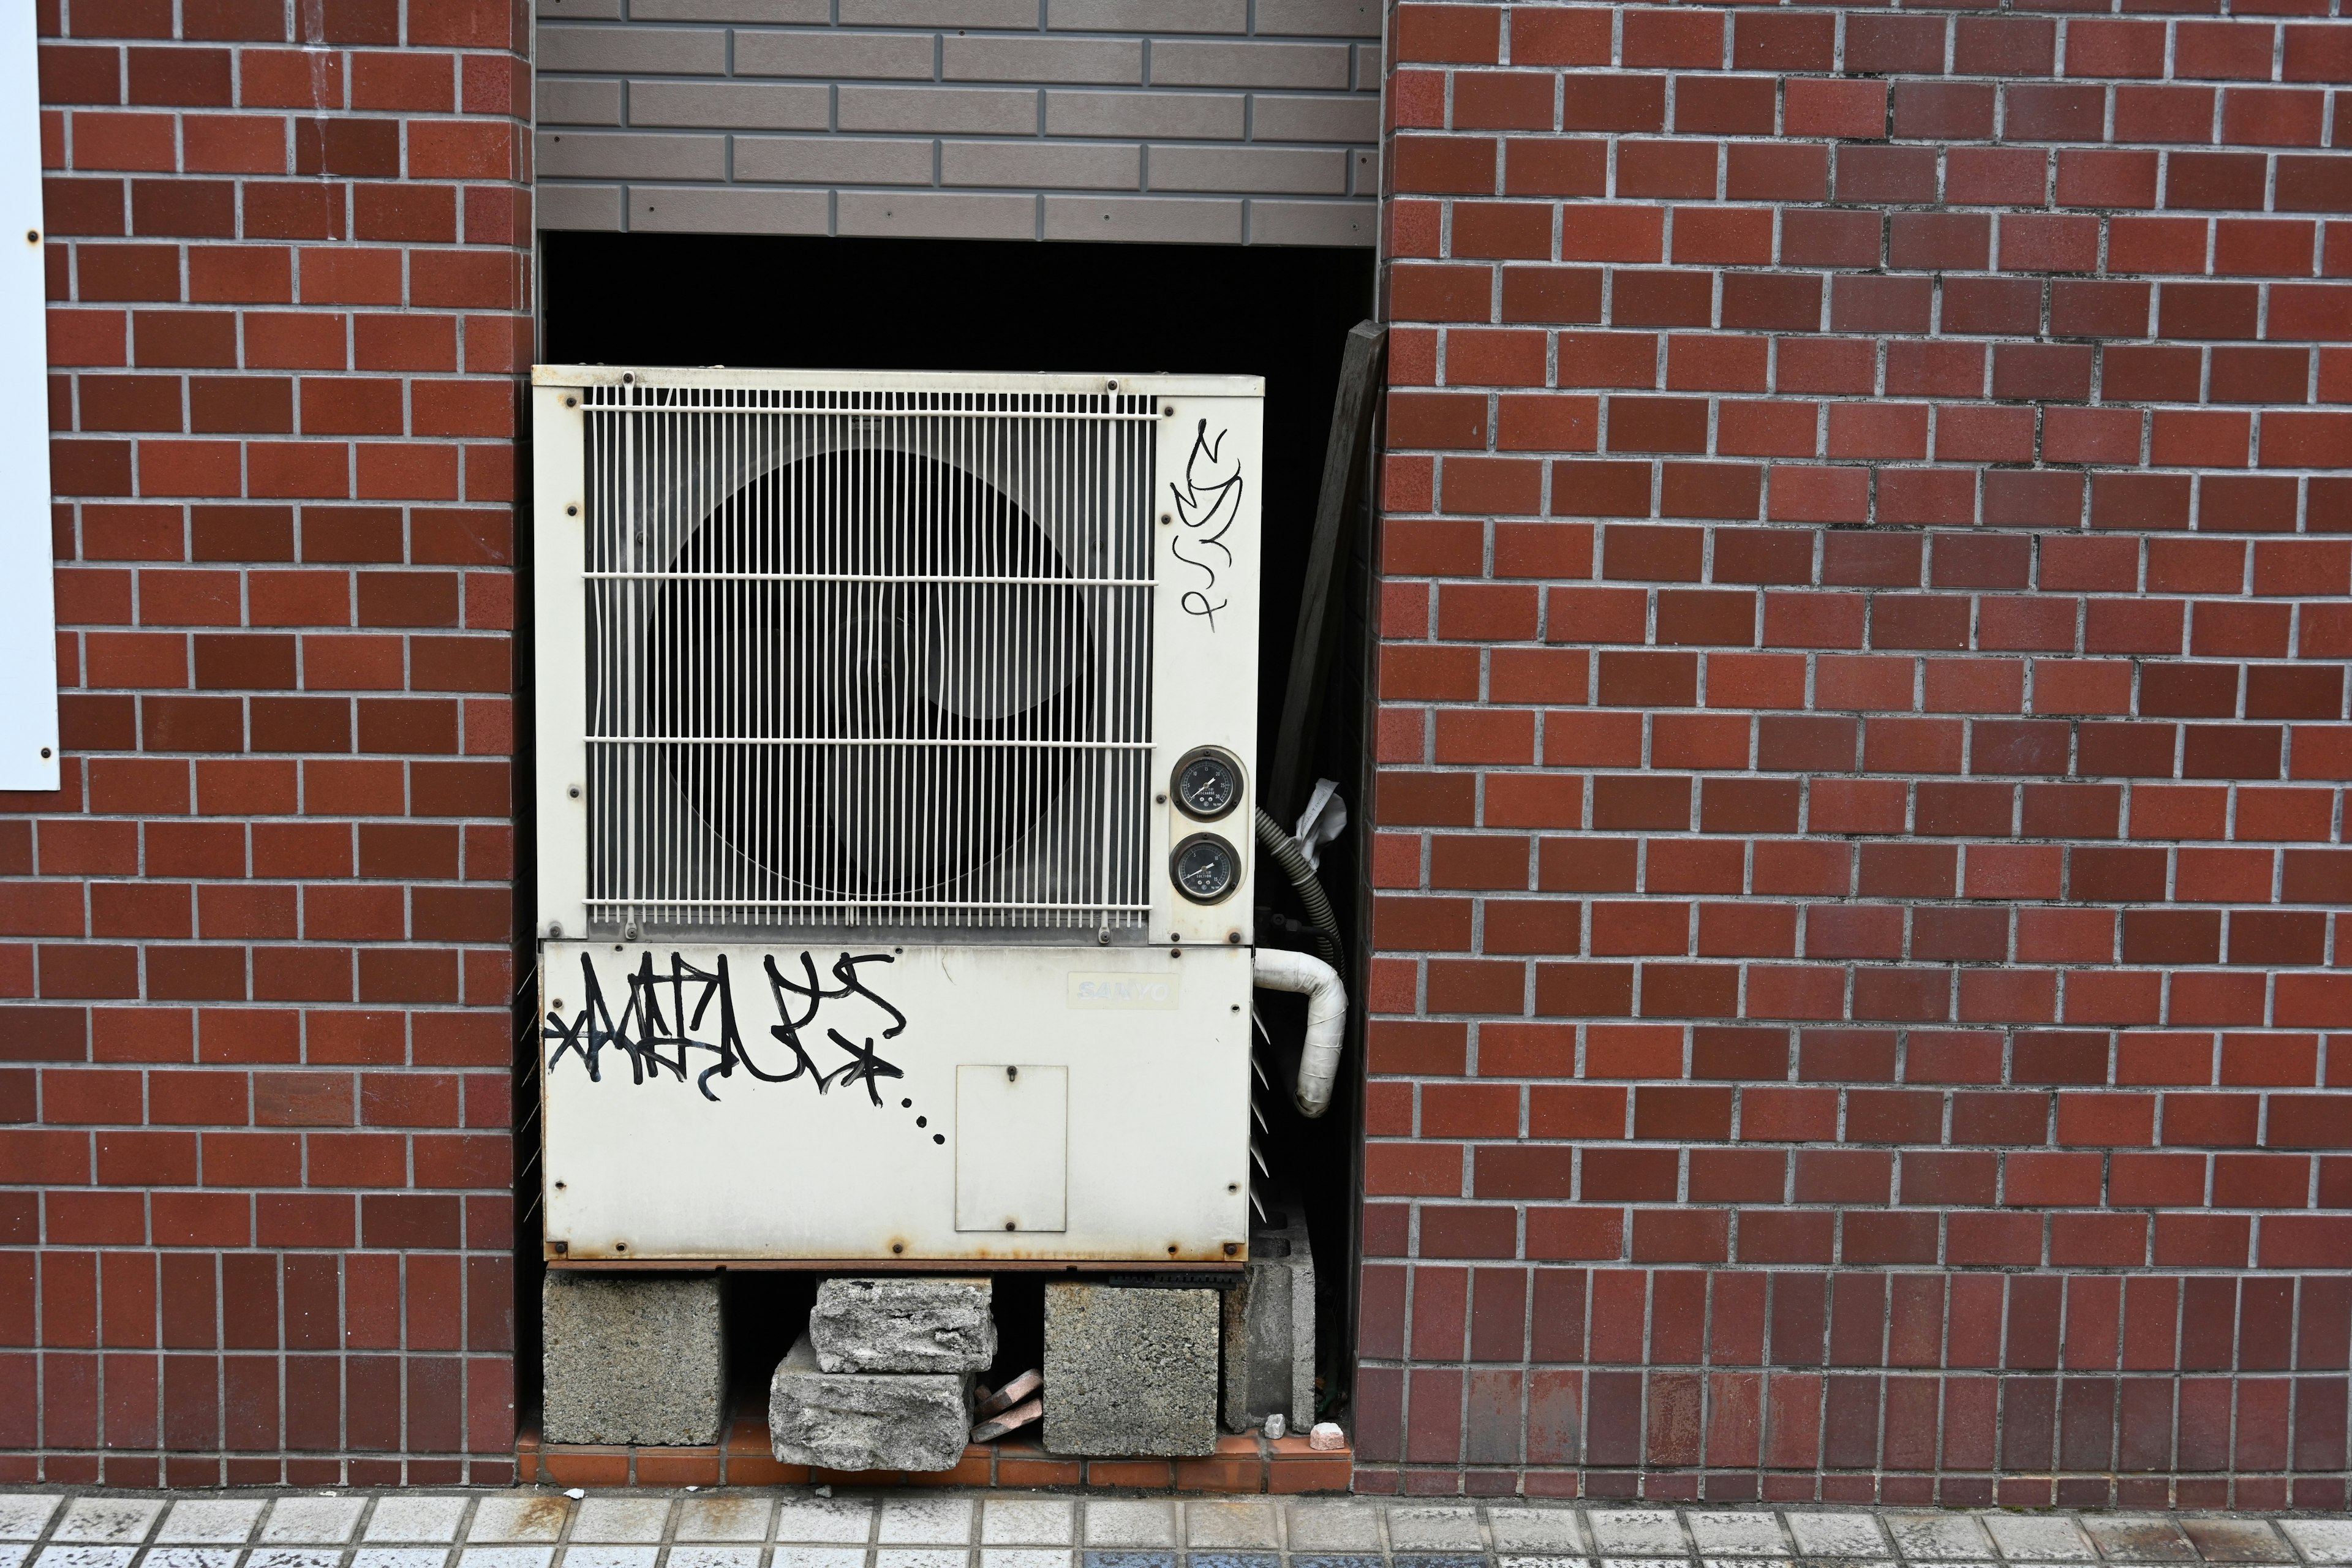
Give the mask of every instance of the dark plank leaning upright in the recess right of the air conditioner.
[{"label": "dark plank leaning upright in the recess right of the air conditioner", "polygon": [[[1345,567],[1345,541],[1362,510],[1371,477],[1371,418],[1381,404],[1381,355],[1388,327],[1357,322],[1341,355],[1338,397],[1331,404],[1331,437],[1324,444],[1324,477],[1315,496],[1315,538],[1308,543],[1308,569],[1298,592],[1298,628],[1291,635],[1291,670],[1282,693],[1282,722],[1275,726],[1275,755],[1265,769],[1258,804],[1289,830],[1305,806],[1315,762],[1315,736],[1322,729],[1324,679],[1338,642],[1341,618],[1331,614],[1331,585]],[[1362,813],[1362,802],[1355,804]],[[1359,816],[1362,820],[1362,816]]]}]

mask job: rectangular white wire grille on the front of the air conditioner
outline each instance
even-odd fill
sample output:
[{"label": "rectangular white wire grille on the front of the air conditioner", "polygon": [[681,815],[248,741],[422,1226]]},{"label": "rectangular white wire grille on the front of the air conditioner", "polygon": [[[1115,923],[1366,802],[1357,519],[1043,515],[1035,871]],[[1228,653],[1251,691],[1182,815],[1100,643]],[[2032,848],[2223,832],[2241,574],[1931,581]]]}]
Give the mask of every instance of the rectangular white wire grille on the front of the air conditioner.
[{"label": "rectangular white wire grille on the front of the air conditioner", "polygon": [[1152,400],[586,416],[597,929],[1143,922]]}]

